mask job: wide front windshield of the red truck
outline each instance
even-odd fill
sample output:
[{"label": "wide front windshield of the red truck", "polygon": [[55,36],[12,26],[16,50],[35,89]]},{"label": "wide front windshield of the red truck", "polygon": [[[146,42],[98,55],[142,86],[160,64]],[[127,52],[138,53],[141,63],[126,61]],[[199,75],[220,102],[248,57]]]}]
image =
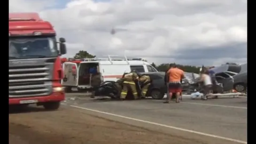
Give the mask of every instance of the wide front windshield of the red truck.
[{"label": "wide front windshield of the red truck", "polygon": [[9,59],[47,58],[58,56],[55,37],[9,38]]}]

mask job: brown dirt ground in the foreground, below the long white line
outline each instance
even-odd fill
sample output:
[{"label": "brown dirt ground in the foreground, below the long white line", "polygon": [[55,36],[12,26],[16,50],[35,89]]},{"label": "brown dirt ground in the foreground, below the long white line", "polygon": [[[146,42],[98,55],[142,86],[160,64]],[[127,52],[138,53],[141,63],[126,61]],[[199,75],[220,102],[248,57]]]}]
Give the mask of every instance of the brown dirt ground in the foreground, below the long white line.
[{"label": "brown dirt ground in the foreground, below the long white line", "polygon": [[9,114],[9,144],[202,144],[63,107]]}]

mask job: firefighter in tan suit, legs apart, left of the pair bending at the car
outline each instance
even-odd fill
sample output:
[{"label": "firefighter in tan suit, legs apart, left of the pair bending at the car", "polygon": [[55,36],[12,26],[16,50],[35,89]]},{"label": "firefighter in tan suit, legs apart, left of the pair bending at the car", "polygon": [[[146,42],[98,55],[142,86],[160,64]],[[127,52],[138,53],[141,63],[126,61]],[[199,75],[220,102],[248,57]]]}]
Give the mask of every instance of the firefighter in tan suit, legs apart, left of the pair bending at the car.
[{"label": "firefighter in tan suit, legs apart, left of the pair bending at the car", "polygon": [[123,89],[121,91],[120,99],[124,100],[129,90],[132,91],[133,98],[138,99],[138,93],[137,93],[135,81],[138,82],[139,76],[136,73],[136,71],[132,71],[128,74],[125,74],[123,77],[124,77],[123,78],[124,82],[123,82]]}]

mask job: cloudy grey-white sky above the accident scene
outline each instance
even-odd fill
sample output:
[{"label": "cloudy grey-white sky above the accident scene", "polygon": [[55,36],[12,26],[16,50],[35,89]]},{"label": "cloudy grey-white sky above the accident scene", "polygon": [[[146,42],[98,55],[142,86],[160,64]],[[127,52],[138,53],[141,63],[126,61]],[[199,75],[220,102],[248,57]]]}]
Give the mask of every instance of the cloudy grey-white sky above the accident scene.
[{"label": "cloudy grey-white sky above the accident scene", "polygon": [[247,61],[247,0],[9,0],[9,12],[39,12],[66,38],[65,57],[86,50],[156,64]]}]

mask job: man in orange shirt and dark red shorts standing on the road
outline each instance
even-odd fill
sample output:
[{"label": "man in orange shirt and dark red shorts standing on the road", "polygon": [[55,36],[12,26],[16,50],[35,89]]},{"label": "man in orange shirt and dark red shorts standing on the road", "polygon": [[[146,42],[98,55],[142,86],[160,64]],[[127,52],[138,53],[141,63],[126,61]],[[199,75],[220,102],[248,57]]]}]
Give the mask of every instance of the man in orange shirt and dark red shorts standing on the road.
[{"label": "man in orange shirt and dark red shorts standing on the road", "polygon": [[169,98],[164,103],[170,103],[173,93],[176,93],[176,103],[179,103],[180,93],[182,92],[181,79],[184,78],[184,71],[177,68],[175,63],[170,64],[170,69],[167,71],[167,82],[169,88]]}]

